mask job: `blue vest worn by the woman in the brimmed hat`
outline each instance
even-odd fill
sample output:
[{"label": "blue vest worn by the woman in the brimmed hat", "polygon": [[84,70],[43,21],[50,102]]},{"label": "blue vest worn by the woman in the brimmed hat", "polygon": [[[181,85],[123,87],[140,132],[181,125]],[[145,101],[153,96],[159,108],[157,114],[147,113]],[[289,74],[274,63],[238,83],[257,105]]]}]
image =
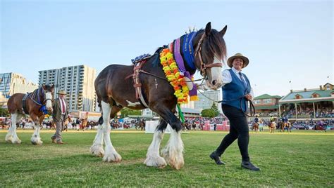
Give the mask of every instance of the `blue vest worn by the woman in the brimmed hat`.
[{"label": "blue vest worn by the woman in the brimmed hat", "polygon": [[236,107],[237,109],[240,109],[240,100],[242,111],[246,112],[247,110],[247,101],[246,98],[241,98],[242,96],[250,93],[251,87],[249,80],[245,74],[242,73],[242,76],[244,76],[244,79],[247,81],[247,88],[242,83],[242,81],[237,77],[235,72],[233,72],[232,69],[228,69],[232,76],[232,81],[230,83],[225,84],[223,86],[223,105],[230,105],[232,107]]}]

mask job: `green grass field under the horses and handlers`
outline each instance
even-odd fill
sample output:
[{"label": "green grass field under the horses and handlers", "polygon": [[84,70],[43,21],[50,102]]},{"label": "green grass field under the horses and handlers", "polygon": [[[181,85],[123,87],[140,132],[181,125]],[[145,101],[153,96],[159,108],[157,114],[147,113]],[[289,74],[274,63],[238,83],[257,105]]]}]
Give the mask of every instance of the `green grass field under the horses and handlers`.
[{"label": "green grass field under the horses and handlers", "polygon": [[[237,142],[223,155],[225,166],[209,159],[226,132],[183,134],[181,170],[144,166],[151,134],[112,131],[120,163],[104,163],[89,154],[94,131],[63,133],[66,145],[52,144],[52,134],[42,130],[44,144],[34,146],[31,130],[18,130],[21,145],[6,143],[6,133],[0,132],[0,187],[334,187],[333,132],[251,133],[249,154],[259,172],[240,167]],[[162,146],[168,138],[166,134]]]}]

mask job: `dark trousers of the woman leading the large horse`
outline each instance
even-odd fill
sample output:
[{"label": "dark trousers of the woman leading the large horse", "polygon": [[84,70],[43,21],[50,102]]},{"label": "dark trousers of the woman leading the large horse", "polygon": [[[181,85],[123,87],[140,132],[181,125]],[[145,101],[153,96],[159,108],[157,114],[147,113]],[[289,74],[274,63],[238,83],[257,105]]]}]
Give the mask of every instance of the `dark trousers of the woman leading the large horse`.
[{"label": "dark trousers of the woman leading the large horse", "polygon": [[248,142],[249,142],[249,128],[247,118],[241,109],[229,105],[222,105],[225,116],[230,121],[230,133],[225,135],[221,140],[221,145],[216,149],[216,154],[221,156],[236,139],[237,145],[240,149],[242,161],[249,161]]}]

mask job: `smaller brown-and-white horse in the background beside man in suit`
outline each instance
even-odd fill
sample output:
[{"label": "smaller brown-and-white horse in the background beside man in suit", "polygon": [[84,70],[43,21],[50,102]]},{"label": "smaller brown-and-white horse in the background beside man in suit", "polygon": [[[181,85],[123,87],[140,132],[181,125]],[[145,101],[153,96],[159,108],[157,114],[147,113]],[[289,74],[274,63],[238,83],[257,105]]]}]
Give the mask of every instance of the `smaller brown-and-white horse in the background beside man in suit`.
[{"label": "smaller brown-and-white horse in the background beside man in suit", "polygon": [[[25,114],[27,114],[32,119],[32,126],[35,128],[35,132],[31,137],[31,142],[33,145],[42,145],[43,142],[39,137],[39,130],[42,128],[44,114],[47,112],[52,112],[53,96],[54,85],[49,86],[43,84],[32,93],[27,94],[24,102],[24,112],[23,98],[25,97],[25,94],[15,93],[12,95],[7,102],[8,112],[11,113],[11,127],[8,129],[6,142],[20,144],[21,140],[16,134],[16,122],[25,116]],[[44,109],[44,112],[42,109]]]}]

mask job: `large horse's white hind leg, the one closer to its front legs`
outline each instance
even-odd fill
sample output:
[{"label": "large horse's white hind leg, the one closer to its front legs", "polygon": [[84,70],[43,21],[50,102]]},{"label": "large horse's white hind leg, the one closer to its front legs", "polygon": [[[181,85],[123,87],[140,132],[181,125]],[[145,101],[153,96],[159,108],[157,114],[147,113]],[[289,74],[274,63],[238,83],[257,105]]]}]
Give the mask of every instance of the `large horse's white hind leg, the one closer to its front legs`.
[{"label": "large horse's white hind leg, the one closer to its front legs", "polygon": [[104,152],[103,161],[106,162],[119,162],[122,160],[120,155],[116,152],[115,148],[113,148],[113,145],[111,144],[110,139],[110,113],[111,113],[111,107],[106,102],[101,102],[102,105],[102,113],[103,113],[103,137],[104,137],[104,143],[106,143],[106,148]]}]

